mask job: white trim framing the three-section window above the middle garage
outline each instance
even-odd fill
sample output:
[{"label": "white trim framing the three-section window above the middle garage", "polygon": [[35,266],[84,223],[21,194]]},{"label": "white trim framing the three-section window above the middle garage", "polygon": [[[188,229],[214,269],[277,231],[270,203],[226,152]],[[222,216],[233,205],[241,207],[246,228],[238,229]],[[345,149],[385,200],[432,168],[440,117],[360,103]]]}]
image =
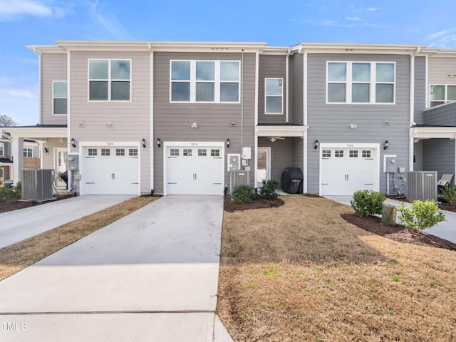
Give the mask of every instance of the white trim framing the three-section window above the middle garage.
[{"label": "white trim framing the three-section window above the middle garage", "polygon": [[[172,80],[172,62],[190,62],[190,80]],[[214,62],[214,81],[197,81],[197,62]],[[220,64],[223,62],[236,62],[238,68],[238,81],[222,81],[220,80]],[[172,100],[172,83],[190,83],[190,100],[188,101],[173,101]],[[196,100],[196,85],[197,83],[214,83],[214,100],[213,101],[197,101]],[[220,85],[222,83],[237,83],[237,101],[221,101],[220,100]],[[237,60],[205,60],[205,59],[172,59],[170,60],[170,103],[241,103],[241,62]]]}]

